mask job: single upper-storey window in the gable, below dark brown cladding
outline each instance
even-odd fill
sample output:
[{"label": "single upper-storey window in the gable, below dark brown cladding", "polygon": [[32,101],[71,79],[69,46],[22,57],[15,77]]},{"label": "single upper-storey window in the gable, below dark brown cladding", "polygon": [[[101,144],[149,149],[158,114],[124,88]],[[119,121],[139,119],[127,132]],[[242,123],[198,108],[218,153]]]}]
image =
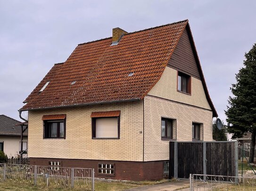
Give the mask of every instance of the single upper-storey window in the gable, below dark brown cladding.
[{"label": "single upper-storey window in the gable, below dark brown cladding", "polygon": [[178,72],[178,91],[184,93],[191,93],[191,79],[190,76],[182,72]]}]

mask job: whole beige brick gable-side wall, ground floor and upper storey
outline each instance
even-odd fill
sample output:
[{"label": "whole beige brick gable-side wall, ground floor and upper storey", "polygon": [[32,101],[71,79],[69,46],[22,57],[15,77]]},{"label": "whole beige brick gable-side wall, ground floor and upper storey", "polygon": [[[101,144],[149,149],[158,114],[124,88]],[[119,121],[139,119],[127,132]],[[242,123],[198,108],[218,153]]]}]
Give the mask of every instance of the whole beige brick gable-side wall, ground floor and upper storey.
[{"label": "whole beige brick gable-side wall, ground floor and upper storey", "polygon": [[191,76],[191,95],[177,92],[177,70],[166,67],[144,98],[144,161],[169,159],[169,141],[161,139],[162,117],[175,119],[177,141],[192,141],[192,122],[201,123],[200,140],[212,141],[212,115],[202,82]]}]

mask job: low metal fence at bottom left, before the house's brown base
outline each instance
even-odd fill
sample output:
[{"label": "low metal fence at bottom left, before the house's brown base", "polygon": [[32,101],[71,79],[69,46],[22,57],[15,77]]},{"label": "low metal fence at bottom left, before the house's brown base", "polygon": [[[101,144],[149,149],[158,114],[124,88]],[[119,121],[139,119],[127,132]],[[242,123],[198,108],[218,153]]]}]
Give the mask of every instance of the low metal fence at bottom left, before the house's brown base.
[{"label": "low metal fence at bottom left, before the house's brown base", "polygon": [[0,182],[29,183],[94,191],[94,168],[64,168],[0,163]]}]

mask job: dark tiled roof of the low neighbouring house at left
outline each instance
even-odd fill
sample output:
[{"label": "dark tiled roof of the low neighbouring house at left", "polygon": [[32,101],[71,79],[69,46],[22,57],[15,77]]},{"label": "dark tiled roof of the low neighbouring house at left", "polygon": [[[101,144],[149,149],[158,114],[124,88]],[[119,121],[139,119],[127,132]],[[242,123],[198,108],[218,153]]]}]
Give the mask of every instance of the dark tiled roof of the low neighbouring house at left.
[{"label": "dark tiled roof of the low neighbouring house at left", "polygon": [[[16,126],[17,123],[21,122],[6,115],[0,115],[0,135],[20,136],[21,126]],[[23,136],[27,136],[27,130],[25,130]]]}]

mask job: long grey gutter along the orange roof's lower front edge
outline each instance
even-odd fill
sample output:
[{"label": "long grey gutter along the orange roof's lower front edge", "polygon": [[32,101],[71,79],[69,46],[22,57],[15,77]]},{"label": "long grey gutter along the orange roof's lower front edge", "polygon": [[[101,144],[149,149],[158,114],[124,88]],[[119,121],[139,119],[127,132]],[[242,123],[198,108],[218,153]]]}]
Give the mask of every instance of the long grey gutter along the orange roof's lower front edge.
[{"label": "long grey gutter along the orange roof's lower front edge", "polygon": [[21,112],[23,111],[31,111],[31,110],[43,110],[43,109],[54,109],[54,108],[63,108],[63,107],[82,107],[82,106],[92,106],[92,105],[99,105],[99,104],[111,104],[111,103],[120,103],[120,102],[128,102],[128,101],[139,101],[140,98],[135,99],[121,99],[121,100],[114,100],[114,101],[103,101],[103,102],[94,102],[94,103],[86,103],[86,104],[76,104],[76,105],[66,105],[66,106],[54,106],[54,107],[40,107],[40,108],[31,108],[31,109],[19,109],[19,117],[28,122],[21,116]]}]

